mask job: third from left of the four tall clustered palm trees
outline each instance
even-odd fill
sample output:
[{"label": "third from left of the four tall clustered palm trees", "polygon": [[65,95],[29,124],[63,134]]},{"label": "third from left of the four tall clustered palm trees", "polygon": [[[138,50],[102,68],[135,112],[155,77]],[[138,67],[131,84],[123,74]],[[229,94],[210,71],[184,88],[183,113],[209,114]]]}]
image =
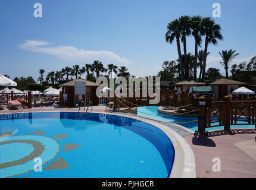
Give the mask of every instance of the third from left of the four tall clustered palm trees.
[{"label": "third from left of the four tall clustered palm trees", "polygon": [[196,81],[196,77],[197,77],[197,59],[198,59],[198,46],[201,47],[201,42],[202,42],[202,38],[201,38],[201,33],[200,33],[200,29],[201,29],[201,21],[202,21],[202,17],[200,16],[193,16],[191,18],[191,29],[192,29],[192,35],[195,38],[195,60],[193,62],[193,80]]}]

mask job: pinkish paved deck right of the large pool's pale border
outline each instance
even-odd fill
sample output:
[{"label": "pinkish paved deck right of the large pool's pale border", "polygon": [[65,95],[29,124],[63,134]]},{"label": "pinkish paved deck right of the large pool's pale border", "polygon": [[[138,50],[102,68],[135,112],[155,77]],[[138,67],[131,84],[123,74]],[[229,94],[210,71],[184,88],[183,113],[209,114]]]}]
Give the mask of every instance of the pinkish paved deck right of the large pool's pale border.
[{"label": "pinkish paved deck right of the large pool's pale border", "polygon": [[[210,134],[208,139],[185,137],[195,154],[196,178],[256,178],[256,160],[234,144],[248,140],[256,144],[254,128],[233,129],[230,134],[217,130]],[[221,172],[213,172],[214,157],[221,160]]]}]

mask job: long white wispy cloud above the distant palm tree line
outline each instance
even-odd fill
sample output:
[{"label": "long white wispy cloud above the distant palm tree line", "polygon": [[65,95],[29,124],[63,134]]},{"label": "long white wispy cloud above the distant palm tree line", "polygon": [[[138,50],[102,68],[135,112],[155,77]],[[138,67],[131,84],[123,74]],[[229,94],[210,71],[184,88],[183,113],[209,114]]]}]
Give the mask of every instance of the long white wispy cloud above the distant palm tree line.
[{"label": "long white wispy cloud above the distant palm tree line", "polygon": [[73,46],[49,46],[49,42],[39,40],[26,40],[25,43],[19,47],[30,52],[45,53],[61,59],[63,61],[77,61],[77,62],[93,62],[99,60],[106,64],[129,65],[131,64],[126,58],[120,58],[113,52],[105,50],[85,50],[77,49]]}]

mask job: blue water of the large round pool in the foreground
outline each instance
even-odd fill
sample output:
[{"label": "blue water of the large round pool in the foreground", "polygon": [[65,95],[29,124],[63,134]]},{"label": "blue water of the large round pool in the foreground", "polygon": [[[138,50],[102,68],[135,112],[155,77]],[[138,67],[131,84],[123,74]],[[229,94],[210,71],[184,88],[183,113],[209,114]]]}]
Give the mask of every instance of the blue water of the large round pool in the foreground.
[{"label": "blue water of the large round pool in the foreground", "polygon": [[[33,170],[36,157],[42,172]],[[135,119],[75,112],[0,115],[0,178],[167,178],[173,160],[166,134]]]}]

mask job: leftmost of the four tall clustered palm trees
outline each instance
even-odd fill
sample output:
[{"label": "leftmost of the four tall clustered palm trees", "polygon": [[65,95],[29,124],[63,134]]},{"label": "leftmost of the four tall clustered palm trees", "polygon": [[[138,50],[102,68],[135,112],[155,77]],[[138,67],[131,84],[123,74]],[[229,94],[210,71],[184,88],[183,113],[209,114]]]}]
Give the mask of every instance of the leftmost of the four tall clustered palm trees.
[{"label": "leftmost of the four tall clustered palm trees", "polygon": [[180,62],[180,74],[182,75],[182,80],[185,79],[184,75],[184,69],[183,69],[183,61],[182,61],[182,51],[180,49],[180,34],[181,29],[180,29],[180,21],[179,20],[174,20],[171,23],[168,23],[167,26],[167,33],[166,33],[166,42],[168,43],[173,43],[174,39],[176,39],[176,45],[177,45],[177,50],[178,50],[178,55],[179,55],[179,62]]}]

